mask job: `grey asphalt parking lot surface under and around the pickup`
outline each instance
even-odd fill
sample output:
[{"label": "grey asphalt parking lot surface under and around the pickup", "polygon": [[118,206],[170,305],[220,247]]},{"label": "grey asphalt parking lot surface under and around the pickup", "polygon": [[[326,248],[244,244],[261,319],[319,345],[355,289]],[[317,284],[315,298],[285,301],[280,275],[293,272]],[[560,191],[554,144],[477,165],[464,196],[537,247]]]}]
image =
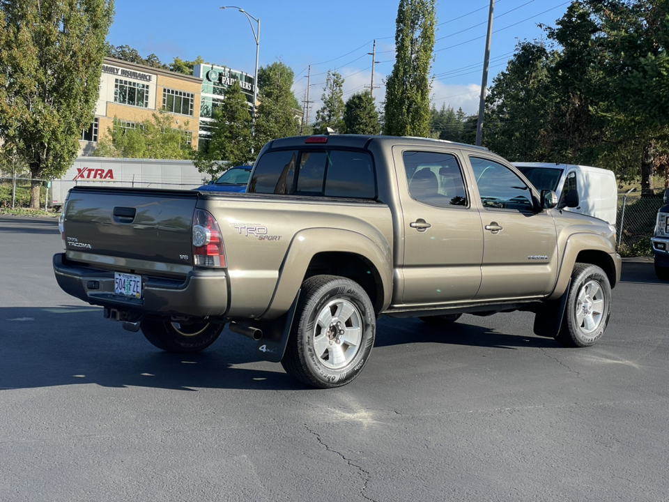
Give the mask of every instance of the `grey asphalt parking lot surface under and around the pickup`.
[{"label": "grey asphalt parking lot surface under and around the pickup", "polygon": [[669,284],[626,260],[589,349],[532,315],[382,318],[305,389],[229,330],[163,353],[57,286],[56,220],[0,216],[0,501],[661,501]]}]

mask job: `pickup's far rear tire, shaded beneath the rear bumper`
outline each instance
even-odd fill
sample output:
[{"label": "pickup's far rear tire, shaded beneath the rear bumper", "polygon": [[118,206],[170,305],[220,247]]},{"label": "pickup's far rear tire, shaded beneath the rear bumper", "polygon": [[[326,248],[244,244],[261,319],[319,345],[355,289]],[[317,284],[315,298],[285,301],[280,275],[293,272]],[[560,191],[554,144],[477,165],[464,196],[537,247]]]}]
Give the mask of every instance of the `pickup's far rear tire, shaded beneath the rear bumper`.
[{"label": "pickup's far rear tire, shaded beneath the rear bumper", "polygon": [[139,327],[146,340],[158,349],[173,353],[193,353],[213,344],[224,325],[208,322],[179,324],[171,320],[144,319]]}]

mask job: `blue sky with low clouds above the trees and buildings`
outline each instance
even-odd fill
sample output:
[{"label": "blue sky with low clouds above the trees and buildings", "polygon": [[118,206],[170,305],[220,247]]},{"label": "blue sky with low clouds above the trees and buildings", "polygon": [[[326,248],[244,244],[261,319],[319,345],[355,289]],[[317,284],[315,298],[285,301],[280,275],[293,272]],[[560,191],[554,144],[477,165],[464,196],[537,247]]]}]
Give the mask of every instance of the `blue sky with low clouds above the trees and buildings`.
[{"label": "blue sky with low clouds above the trees and buildings", "polygon": [[[304,100],[307,66],[312,65],[310,117],[321,106],[328,70],[344,77],[344,100],[371,81],[376,39],[374,97],[383,100],[383,78],[394,63],[398,0],[116,0],[116,17],[107,41],[130,45],[141,56],[156,54],[163,63],[175,56],[229,66],[253,74],[256,41],[247,18],[235,5],[261,20],[260,66],[280,59],[295,72],[293,91]],[[555,26],[571,1],[496,0],[489,85],[504,70],[519,40],[546,38],[538,24]],[[489,0],[437,1],[435,105],[476,112],[482,79]],[[254,22],[254,28],[256,24]]]}]

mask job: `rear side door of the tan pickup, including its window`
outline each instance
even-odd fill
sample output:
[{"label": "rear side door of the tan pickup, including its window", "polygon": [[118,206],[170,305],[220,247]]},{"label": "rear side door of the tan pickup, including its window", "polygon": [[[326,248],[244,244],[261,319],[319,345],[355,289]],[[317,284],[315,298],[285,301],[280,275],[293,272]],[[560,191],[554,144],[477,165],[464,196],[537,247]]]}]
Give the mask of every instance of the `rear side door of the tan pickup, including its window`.
[{"label": "rear side door of the tan pickup, including its window", "polygon": [[393,155],[403,213],[403,294],[394,303],[471,300],[481,282],[483,234],[461,160],[410,146],[394,146]]}]

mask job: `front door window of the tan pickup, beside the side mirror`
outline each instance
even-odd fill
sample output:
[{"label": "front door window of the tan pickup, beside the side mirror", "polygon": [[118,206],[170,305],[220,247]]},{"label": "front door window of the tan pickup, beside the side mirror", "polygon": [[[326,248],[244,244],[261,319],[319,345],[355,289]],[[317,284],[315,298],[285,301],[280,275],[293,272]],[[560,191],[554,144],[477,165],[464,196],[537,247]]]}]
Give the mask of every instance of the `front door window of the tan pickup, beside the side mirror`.
[{"label": "front door window of the tan pickup, beside the side mirror", "polygon": [[532,192],[516,173],[486,158],[470,157],[472,170],[486,208],[532,211]]}]

